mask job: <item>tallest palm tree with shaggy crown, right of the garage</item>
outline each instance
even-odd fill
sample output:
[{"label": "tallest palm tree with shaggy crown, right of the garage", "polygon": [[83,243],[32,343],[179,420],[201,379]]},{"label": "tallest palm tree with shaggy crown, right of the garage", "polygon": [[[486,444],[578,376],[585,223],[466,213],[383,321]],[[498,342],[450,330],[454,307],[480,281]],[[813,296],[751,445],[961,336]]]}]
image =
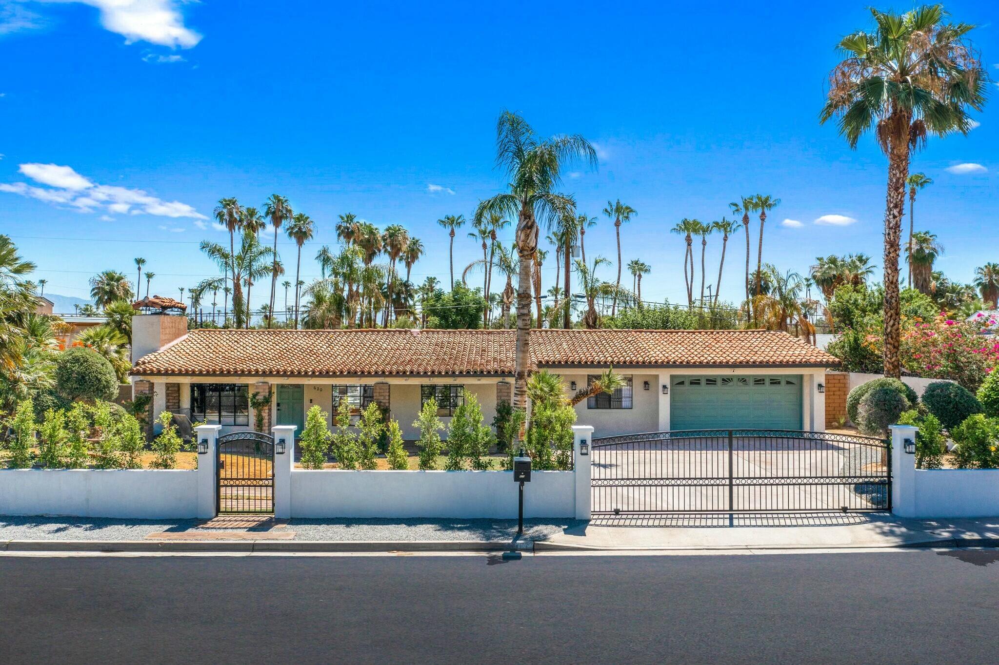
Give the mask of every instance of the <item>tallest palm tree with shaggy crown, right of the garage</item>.
[{"label": "tallest palm tree with shaggy crown, right of the garage", "polygon": [[[971,43],[975,27],[944,23],[940,5],[924,5],[905,14],[871,10],[872,33],[844,37],[845,58],[829,77],[825,123],[839,119],[839,133],[851,148],[876,130],[888,156],[884,216],[884,375],[901,375],[901,306],[898,250],[905,184],[912,151],[930,134],[943,137],[971,130],[969,107],[981,110],[989,78]],[[913,276],[914,277],[914,276]]]}]

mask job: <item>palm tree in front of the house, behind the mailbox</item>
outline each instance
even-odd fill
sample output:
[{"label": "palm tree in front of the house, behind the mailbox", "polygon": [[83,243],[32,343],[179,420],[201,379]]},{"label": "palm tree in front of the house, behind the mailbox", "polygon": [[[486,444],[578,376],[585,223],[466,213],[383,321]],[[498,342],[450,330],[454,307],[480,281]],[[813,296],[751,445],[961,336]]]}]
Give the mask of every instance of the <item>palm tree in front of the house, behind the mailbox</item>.
[{"label": "palm tree in front of the house, behind the mailbox", "polygon": [[557,194],[562,168],[583,160],[596,166],[596,151],[579,135],[541,139],[515,113],[504,111],[497,121],[497,166],[507,177],[509,192],[483,201],[476,215],[516,215],[516,252],[519,257],[516,293],[516,353],[513,408],[526,408],[527,368],[530,366],[530,277],[537,250],[540,220],[555,224],[575,201]]}]

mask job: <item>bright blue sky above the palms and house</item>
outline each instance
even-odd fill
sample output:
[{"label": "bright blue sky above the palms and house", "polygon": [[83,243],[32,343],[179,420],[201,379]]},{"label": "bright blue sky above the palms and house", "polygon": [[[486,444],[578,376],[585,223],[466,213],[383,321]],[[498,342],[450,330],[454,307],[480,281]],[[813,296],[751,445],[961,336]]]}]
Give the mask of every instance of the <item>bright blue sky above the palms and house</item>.
[{"label": "bright blue sky above the palms and house", "polygon": [[[494,128],[507,108],[542,135],[597,146],[599,169],[562,189],[591,216],[617,198],[638,211],[623,258],[652,267],[646,300],[683,298],[670,227],[718,219],[757,192],[782,200],[764,261],[804,272],[816,256],[863,252],[880,266],[885,159],[872,140],[851,151],[817,122],[833,47],[868,27],[866,0],[485,4],[0,0],[0,233],[38,264],[47,292],[86,296],[93,274],[134,275],[141,256],[153,291],[176,295],[216,274],[198,252],[224,237],[207,220],[215,202],[261,206],[277,192],[318,223],[307,279],[336,242],[337,215],[353,212],[409,228],[428,249],[414,280],[446,282],[435,221],[469,217],[500,191]],[[972,37],[999,80],[999,7],[946,8],[981,26]],[[996,104],[969,136],[932,139],[913,163],[935,181],[917,229],[939,236],[952,279],[999,261]],[[729,244],[723,298],[738,296],[744,242]],[[456,245],[458,270],[480,250]],[[291,243],[282,249],[293,261]],[[605,218],[586,250],[614,256]],[[712,238],[709,284],[719,251]],[[549,261],[545,289],[553,279]]]}]

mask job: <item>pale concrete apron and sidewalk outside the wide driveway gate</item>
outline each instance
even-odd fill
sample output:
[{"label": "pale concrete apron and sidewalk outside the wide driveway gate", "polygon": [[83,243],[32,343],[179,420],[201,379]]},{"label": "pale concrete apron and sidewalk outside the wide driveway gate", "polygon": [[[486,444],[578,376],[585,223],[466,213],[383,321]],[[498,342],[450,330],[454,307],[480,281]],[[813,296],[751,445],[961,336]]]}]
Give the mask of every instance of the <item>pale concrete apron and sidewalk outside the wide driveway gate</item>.
[{"label": "pale concrete apron and sidewalk outside the wide driveway gate", "polygon": [[594,518],[534,543],[545,550],[999,546],[999,517],[903,519],[887,513]]}]

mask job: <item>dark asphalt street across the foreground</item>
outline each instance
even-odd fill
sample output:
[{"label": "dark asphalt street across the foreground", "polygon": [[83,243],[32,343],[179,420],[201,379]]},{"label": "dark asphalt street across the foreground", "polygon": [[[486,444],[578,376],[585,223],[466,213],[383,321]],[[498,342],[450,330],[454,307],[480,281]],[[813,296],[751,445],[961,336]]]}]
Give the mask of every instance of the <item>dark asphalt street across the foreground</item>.
[{"label": "dark asphalt street across the foreground", "polygon": [[0,557],[3,663],[995,662],[999,551]]}]

